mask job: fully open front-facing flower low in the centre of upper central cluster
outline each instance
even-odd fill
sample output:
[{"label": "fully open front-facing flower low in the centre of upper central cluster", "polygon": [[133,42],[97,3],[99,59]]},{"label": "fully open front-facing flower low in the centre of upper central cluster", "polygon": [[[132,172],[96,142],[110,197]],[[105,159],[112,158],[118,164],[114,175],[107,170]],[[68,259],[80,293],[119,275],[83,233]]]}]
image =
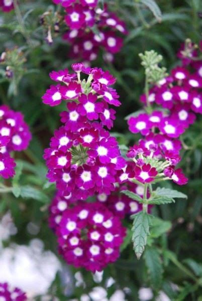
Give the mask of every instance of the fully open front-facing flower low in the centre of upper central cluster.
[{"label": "fully open front-facing flower low in the centre of upper central cluster", "polygon": [[78,105],[78,112],[82,116],[86,116],[89,120],[98,119],[98,113],[102,112],[103,104],[96,102],[96,100],[97,96],[95,94],[81,94],[78,98],[78,101],[80,102]]}]

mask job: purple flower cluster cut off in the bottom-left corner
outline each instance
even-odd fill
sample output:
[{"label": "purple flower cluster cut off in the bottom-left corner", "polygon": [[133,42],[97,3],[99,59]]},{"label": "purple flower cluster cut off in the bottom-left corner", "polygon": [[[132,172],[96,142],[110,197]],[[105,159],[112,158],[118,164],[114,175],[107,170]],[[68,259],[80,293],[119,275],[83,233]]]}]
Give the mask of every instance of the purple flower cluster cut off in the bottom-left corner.
[{"label": "purple flower cluster cut off in the bottom-left corner", "polygon": [[26,293],[20,288],[11,289],[8,283],[0,283],[0,300],[1,301],[26,301]]}]

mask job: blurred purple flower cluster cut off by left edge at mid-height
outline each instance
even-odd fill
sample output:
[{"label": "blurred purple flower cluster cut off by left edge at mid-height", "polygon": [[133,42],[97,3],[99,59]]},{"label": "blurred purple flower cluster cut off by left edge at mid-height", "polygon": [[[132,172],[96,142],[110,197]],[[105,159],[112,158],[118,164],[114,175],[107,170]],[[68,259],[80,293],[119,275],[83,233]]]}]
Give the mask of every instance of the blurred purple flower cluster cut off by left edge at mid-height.
[{"label": "blurred purple flower cluster cut off by left edge at mid-height", "polygon": [[10,152],[26,149],[30,139],[31,133],[23,114],[6,105],[0,106],[0,176],[14,176],[16,164]]}]

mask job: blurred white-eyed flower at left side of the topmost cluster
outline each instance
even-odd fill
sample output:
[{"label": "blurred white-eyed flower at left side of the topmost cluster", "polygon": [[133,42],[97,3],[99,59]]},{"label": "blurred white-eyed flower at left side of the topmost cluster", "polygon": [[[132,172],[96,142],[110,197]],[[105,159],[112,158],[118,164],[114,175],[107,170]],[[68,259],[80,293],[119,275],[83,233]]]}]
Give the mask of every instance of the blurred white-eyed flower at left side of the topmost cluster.
[{"label": "blurred white-eyed flower at left side of the topmost cluster", "polygon": [[75,4],[72,7],[67,7],[66,12],[67,15],[64,19],[70,29],[79,29],[84,24],[85,14],[81,5]]}]

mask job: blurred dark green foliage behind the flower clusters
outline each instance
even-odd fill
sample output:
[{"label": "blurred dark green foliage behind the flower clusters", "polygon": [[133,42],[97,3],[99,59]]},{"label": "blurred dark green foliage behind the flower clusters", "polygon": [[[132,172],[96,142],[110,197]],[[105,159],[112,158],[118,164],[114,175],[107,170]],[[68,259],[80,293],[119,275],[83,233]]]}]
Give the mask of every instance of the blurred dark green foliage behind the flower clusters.
[{"label": "blurred dark green foliage behind the flower clusters", "polygon": [[[194,43],[201,39],[202,2],[105,2],[109,4],[110,10],[114,10],[127,23],[129,34],[113,63],[106,63],[100,53],[93,66],[110,70],[117,77],[116,89],[122,106],[117,109],[113,132],[120,144],[131,144],[139,139],[139,135],[128,131],[125,116],[141,108],[139,97],[144,89],[144,70],[138,54],[154,49],[163,55],[163,65],[168,71],[177,65],[176,53],[181,43],[186,38]],[[47,224],[47,208],[54,195],[54,185],[48,184],[46,180],[42,155],[54,129],[60,124],[59,112],[65,109],[65,105],[46,106],[42,103],[41,96],[51,84],[49,72],[69,68],[73,61],[68,57],[69,46],[61,38],[64,28],[61,27],[58,34],[53,33],[53,44],[48,45],[45,41],[46,29],[40,25],[40,16],[48,10],[55,11],[56,6],[48,0],[19,1],[19,4],[22,19],[19,14],[16,17],[14,11],[9,14],[1,13],[0,16],[1,52],[17,47],[22,52],[21,58],[24,58],[20,67],[14,61],[13,79],[6,78],[6,66],[0,66],[0,102],[24,113],[33,139],[28,150],[16,155],[18,169],[13,186],[19,187],[21,191],[16,189],[14,194],[1,196],[0,215],[8,210],[12,212],[18,228],[12,241],[27,244],[33,237],[38,237],[44,241],[47,249],[57,254],[55,237]],[[100,1],[100,5],[103,5],[103,1]],[[127,299],[138,300],[139,288],[147,286],[152,287],[154,300],[159,290],[163,290],[171,300],[202,300],[201,130],[202,118],[198,116],[197,121],[182,135],[186,149],[182,150],[181,167],[189,182],[180,191],[188,195],[188,200],[178,200],[175,204],[154,208],[154,215],[162,217],[168,223],[157,224],[156,227],[164,229],[159,231],[158,237],[151,238],[155,247],[148,246],[144,258],[138,261],[132,245],[125,242],[121,258],[106,268],[100,283],[105,286],[109,276],[116,279],[116,283],[108,289],[109,296],[116,288],[129,287]],[[126,223],[130,225],[130,220]],[[168,229],[168,233],[165,233]],[[157,263],[158,260],[160,264]],[[72,274],[74,272],[72,269]],[[86,286],[75,288],[72,298],[79,297],[96,286],[89,272],[81,272]],[[171,283],[178,286],[177,290],[173,289]],[[66,300],[67,297],[62,292],[62,281],[58,276],[50,288],[50,294]]]}]

